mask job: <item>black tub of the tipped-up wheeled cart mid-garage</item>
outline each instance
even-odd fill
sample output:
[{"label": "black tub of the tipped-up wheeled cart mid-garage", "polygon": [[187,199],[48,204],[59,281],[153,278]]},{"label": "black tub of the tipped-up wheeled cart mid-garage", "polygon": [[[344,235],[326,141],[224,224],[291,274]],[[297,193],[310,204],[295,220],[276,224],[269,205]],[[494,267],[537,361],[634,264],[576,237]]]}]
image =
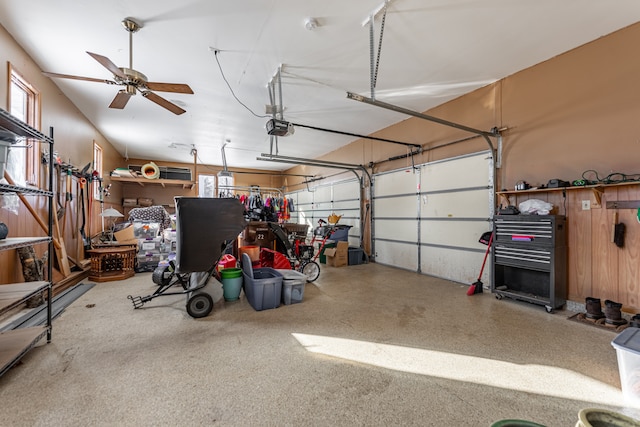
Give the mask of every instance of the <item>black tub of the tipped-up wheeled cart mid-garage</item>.
[{"label": "black tub of the tipped-up wheeled cart mid-garage", "polygon": [[176,197],[176,269],[208,271],[247,225],[236,199]]}]

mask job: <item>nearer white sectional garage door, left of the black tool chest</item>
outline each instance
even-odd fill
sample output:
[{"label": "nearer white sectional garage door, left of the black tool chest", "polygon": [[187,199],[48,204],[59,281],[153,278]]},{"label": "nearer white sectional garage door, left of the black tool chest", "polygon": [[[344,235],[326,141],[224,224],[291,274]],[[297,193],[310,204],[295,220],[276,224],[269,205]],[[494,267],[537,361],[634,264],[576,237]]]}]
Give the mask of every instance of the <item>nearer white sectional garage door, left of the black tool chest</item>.
[{"label": "nearer white sectional garage door, left of the black tool chest", "polygon": [[491,229],[492,182],[488,151],[375,175],[376,262],[474,282],[487,249],[478,239]]}]

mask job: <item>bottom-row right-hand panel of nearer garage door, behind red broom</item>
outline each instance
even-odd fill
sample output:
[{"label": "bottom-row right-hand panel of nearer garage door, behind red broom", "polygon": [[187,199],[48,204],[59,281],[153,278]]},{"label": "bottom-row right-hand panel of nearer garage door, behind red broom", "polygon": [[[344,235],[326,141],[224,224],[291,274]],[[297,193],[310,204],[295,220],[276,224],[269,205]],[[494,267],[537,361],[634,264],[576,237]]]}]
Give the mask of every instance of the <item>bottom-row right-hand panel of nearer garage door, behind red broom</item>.
[{"label": "bottom-row right-hand panel of nearer garage door, behind red broom", "polygon": [[[484,253],[429,246],[422,246],[421,251],[420,268],[423,273],[463,284],[471,284],[478,279]],[[489,270],[486,266],[481,279],[487,285],[490,283]]]}]

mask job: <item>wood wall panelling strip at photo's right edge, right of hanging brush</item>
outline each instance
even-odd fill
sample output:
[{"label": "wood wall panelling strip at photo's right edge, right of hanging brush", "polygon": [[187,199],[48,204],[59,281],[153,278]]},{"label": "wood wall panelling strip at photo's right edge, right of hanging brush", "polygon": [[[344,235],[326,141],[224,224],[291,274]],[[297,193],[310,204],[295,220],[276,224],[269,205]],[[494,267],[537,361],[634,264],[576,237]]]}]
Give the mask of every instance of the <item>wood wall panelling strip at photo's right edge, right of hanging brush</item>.
[{"label": "wood wall panelling strip at photo's right edge, right of hanging brush", "polygon": [[[620,187],[618,201],[622,200],[640,200],[640,186]],[[623,310],[637,312],[640,310],[640,224],[636,209],[617,211],[618,222],[625,225],[624,246],[618,248],[618,302],[623,304]]]}]

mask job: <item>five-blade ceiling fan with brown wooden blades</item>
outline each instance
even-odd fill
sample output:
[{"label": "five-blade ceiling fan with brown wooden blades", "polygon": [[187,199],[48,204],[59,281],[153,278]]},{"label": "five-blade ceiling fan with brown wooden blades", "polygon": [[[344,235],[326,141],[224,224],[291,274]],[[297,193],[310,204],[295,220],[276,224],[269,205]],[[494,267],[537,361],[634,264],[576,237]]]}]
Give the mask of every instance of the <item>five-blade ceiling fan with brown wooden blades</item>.
[{"label": "five-blade ceiling fan with brown wooden blades", "polygon": [[193,90],[189,85],[182,83],[158,83],[150,82],[147,80],[147,76],[139,71],[133,69],[133,33],[137,32],[142,25],[132,18],[125,18],[122,20],[122,25],[129,32],[129,68],[118,67],[106,56],[98,55],[97,53],[87,52],[93,59],[98,61],[103,67],[111,71],[113,74],[113,80],[96,79],[92,77],[80,77],[72,76],[69,74],[58,74],[43,72],[45,76],[57,77],[63,79],[84,80],[89,82],[107,83],[110,85],[124,86],[124,89],[120,89],[116,94],[109,108],[123,109],[129,98],[135,95],[136,92],[140,92],[143,97],[150,101],[155,102],[161,107],[166,108],[174,114],[182,114],[186,111],[177,106],[176,104],[164,99],[163,97],[151,92],[152,90],[160,92],[174,92],[174,93],[186,93],[193,94]]}]

